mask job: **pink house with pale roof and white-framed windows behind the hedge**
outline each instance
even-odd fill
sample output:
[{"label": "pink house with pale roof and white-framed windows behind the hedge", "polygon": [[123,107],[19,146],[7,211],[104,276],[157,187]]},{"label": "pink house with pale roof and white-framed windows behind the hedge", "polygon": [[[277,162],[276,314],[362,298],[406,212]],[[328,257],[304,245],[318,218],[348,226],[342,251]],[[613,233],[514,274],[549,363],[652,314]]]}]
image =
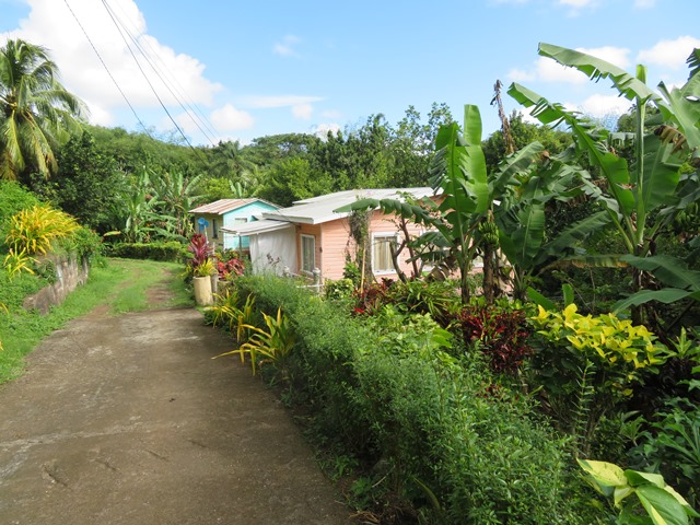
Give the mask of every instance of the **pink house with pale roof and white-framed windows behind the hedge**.
[{"label": "pink house with pale roof and white-framed windows behind the hedge", "polygon": [[[294,202],[290,208],[265,211],[259,220],[240,226],[222,228],[230,234],[248,236],[254,271],[273,271],[311,277],[314,269],[323,279],[342,278],[346,257],[353,259],[358,247],[350,234],[350,213],[334,210],[362,198],[401,199],[408,194],[412,198],[432,197],[433,190],[423,188],[354,189],[323,195]],[[375,277],[396,279],[390,249],[404,238],[395,215],[372,212],[369,222],[370,247],[364,257],[371,261]],[[409,223],[410,235],[424,232],[421,226]],[[405,250],[399,258],[400,268],[410,275],[411,265],[406,261]]]}]

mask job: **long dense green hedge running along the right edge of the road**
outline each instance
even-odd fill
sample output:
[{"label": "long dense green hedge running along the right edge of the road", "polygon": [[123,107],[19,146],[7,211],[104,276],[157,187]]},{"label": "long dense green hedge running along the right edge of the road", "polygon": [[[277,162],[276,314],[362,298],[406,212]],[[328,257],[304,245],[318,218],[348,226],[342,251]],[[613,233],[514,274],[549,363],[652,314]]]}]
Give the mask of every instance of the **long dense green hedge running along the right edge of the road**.
[{"label": "long dense green hedge running along the right edge of the road", "polygon": [[285,398],[317,443],[360,466],[350,495],[376,523],[594,523],[564,443],[526,397],[494,384],[480,353],[450,355],[429,315],[352,317],[278,278],[236,287],[289,316]]}]

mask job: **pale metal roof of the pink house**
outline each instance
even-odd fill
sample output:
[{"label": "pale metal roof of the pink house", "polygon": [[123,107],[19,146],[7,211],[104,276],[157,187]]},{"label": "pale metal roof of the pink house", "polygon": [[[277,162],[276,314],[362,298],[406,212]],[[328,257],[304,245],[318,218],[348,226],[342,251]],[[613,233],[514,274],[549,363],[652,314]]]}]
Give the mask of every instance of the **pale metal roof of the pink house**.
[{"label": "pale metal roof of the pink house", "polygon": [[334,221],[349,213],[336,213],[334,210],[354,202],[359,199],[400,199],[400,194],[410,194],[417,199],[433,195],[432,188],[381,188],[381,189],[351,189],[335,194],[322,195],[311,199],[299,200],[290,208],[275,211],[265,211],[262,217],[287,222],[300,222],[305,224],[322,224]]}]

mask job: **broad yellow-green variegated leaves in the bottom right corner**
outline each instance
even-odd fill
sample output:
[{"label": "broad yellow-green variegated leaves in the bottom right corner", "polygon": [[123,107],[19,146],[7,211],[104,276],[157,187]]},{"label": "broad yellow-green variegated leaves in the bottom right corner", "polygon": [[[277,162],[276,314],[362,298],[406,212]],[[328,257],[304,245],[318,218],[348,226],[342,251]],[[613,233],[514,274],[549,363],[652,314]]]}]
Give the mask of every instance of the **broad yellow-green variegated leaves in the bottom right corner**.
[{"label": "broad yellow-green variegated leaves in the bottom right corner", "polygon": [[658,474],[622,470],[605,462],[576,459],[586,480],[599,493],[612,498],[621,525],[689,525],[700,517]]}]

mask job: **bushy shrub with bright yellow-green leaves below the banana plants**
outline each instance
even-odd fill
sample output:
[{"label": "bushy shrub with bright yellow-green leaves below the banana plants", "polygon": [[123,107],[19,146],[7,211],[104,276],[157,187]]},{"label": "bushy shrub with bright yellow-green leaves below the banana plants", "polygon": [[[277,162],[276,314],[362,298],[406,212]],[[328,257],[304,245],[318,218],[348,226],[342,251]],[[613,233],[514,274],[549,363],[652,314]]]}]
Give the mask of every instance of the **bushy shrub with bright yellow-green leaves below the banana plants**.
[{"label": "bushy shrub with bright yellow-green leaves below the banana plants", "polygon": [[600,420],[630,398],[642,371],[658,370],[667,349],[643,326],[612,314],[581,315],[575,304],[563,312],[539,306],[530,322],[536,332],[529,385],[585,456]]}]

